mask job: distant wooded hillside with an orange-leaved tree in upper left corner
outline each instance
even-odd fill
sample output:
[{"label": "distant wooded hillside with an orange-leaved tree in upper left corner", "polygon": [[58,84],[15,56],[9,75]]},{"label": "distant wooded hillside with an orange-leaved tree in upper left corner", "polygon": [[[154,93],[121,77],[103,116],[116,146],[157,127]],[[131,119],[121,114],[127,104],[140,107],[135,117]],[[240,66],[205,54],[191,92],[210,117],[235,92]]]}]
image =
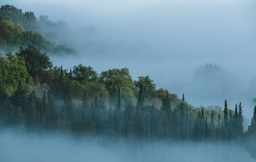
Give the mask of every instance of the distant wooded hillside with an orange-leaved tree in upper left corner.
[{"label": "distant wooded hillside with an orange-leaved tree in upper left corner", "polygon": [[75,54],[73,48],[57,45],[44,38],[49,34],[56,36],[52,32],[49,33],[47,29],[55,26],[61,30],[62,24],[51,22],[47,16],[40,16],[38,20],[33,11],[23,13],[22,9],[13,5],[2,5],[0,7],[0,51],[17,50],[32,43],[40,50],[52,54]]}]

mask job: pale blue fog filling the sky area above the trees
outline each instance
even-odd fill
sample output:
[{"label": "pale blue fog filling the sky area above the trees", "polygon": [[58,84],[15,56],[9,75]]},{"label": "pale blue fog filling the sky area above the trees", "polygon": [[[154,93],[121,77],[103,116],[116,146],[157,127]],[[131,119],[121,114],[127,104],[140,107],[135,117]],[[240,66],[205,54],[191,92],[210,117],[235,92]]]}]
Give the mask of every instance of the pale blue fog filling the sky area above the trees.
[{"label": "pale blue fog filling the sky area above the trees", "polygon": [[[130,69],[150,76],[158,88],[185,93],[194,106],[242,102],[251,117],[255,86],[255,11],[251,0],[2,0],[23,11],[67,22],[55,41],[74,47],[75,56],[52,55],[54,65],[91,65],[99,73]],[[221,70],[200,72],[205,63]],[[199,70],[199,72],[198,72]],[[209,72],[211,73],[211,72]],[[215,80],[216,79],[216,80]]]}]

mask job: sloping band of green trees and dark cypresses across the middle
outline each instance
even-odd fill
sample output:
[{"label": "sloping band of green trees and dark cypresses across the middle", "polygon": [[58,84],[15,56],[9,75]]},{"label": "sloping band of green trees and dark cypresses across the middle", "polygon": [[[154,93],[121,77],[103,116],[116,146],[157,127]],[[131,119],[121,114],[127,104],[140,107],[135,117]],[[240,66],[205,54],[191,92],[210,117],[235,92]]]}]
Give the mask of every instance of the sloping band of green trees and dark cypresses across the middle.
[{"label": "sloping band of green trees and dark cypresses across the middle", "polygon": [[21,132],[61,131],[79,136],[141,140],[256,138],[256,106],[244,132],[242,103],[193,107],[149,76],[132,80],[128,68],[98,74],[82,64],[53,67],[35,45],[0,55],[0,125]]}]

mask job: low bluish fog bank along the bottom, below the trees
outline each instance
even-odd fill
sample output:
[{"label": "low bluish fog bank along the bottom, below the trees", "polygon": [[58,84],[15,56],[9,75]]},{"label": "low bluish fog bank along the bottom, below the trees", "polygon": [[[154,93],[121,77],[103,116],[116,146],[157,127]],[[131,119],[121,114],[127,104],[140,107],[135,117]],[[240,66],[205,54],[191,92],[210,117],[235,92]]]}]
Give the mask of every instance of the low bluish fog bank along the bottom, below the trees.
[{"label": "low bluish fog bank along the bottom, below the trees", "polygon": [[[17,135],[19,134],[19,135]],[[2,131],[0,159],[12,161],[255,161],[235,144],[203,142],[106,142],[63,134],[22,134]]]}]

